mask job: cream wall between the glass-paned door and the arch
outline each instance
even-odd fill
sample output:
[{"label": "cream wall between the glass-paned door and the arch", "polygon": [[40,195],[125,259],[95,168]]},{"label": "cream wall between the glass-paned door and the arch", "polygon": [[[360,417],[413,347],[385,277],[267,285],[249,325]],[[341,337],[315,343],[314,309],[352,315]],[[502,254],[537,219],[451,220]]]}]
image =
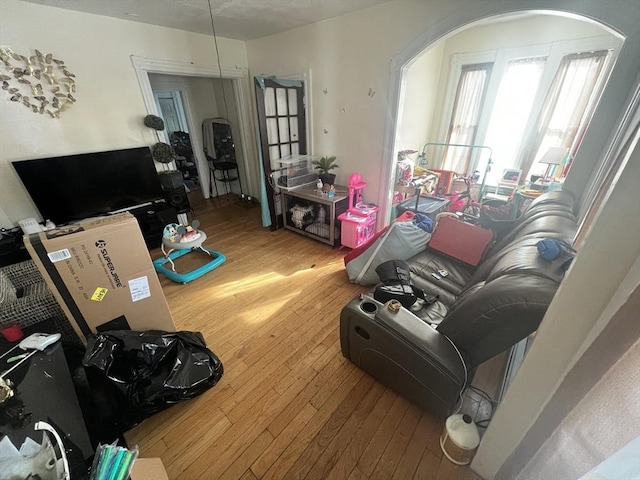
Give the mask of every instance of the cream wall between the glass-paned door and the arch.
[{"label": "cream wall between the glass-paned door and the arch", "polygon": [[360,172],[367,182],[365,197],[376,202],[390,60],[424,30],[425,17],[449,8],[446,2],[393,1],[249,41],[250,72],[312,71],[309,152],[338,157],[340,168],[334,172],[340,184]]}]

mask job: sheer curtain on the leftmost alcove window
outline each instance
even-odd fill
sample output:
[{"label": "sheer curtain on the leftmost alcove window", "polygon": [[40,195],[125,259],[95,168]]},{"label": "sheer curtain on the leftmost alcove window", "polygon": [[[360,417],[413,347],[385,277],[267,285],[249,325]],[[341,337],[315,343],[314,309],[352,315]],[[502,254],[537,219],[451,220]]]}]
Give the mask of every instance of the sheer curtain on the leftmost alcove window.
[{"label": "sheer curtain on the leftmost alcove window", "polygon": [[[492,63],[478,63],[462,67],[449,124],[449,134],[445,143],[473,144],[492,65]],[[464,147],[447,148],[444,152],[442,168],[457,173],[467,173],[471,152],[471,149]]]}]

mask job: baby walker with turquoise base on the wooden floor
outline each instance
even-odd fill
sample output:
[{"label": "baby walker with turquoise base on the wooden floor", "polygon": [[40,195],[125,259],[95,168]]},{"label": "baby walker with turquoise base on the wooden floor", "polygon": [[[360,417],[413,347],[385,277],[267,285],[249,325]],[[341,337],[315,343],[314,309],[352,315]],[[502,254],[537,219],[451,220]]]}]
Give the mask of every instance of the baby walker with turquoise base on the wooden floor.
[{"label": "baby walker with turquoise base on the wooden floor", "polygon": [[[207,234],[202,230],[198,230],[200,234],[196,239],[189,242],[172,242],[166,237],[162,238],[162,254],[161,258],[157,258],[153,261],[153,266],[156,269],[156,272],[162,273],[165,277],[173,280],[177,283],[187,283],[196,278],[201,277],[205,273],[210,272],[214,268],[223,264],[227,258],[220,252],[216,252],[215,250],[209,250],[208,248],[204,248],[202,244],[207,239]],[[169,250],[166,251],[165,247]],[[202,252],[208,255],[211,260],[204,265],[191,270],[186,273],[177,273],[176,265],[173,261],[176,258],[180,258],[183,255],[186,255],[191,252]],[[171,264],[171,270],[165,267],[166,263]]]}]

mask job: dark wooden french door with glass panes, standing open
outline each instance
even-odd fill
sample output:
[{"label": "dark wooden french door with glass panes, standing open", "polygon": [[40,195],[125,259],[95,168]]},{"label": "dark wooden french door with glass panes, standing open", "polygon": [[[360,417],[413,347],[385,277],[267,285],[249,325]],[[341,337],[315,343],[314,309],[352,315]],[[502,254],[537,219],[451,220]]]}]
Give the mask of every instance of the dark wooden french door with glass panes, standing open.
[{"label": "dark wooden french door with glass panes, standing open", "polygon": [[283,226],[280,194],[274,178],[278,160],[307,153],[304,82],[275,77],[255,77],[254,81],[263,181],[271,230],[276,230]]}]

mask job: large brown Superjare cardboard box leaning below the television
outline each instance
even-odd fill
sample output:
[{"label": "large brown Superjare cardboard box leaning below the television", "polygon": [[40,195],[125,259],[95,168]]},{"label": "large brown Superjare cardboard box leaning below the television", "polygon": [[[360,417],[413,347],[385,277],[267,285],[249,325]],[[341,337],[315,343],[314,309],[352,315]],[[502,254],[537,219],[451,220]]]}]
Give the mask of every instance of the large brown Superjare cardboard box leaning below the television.
[{"label": "large brown Superjare cardboard box leaning below the television", "polygon": [[25,246],[80,338],[96,329],[175,331],[133,215],[35,233]]}]

